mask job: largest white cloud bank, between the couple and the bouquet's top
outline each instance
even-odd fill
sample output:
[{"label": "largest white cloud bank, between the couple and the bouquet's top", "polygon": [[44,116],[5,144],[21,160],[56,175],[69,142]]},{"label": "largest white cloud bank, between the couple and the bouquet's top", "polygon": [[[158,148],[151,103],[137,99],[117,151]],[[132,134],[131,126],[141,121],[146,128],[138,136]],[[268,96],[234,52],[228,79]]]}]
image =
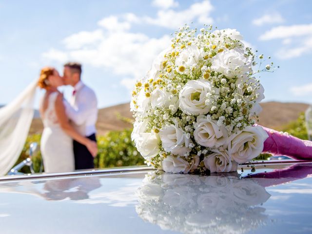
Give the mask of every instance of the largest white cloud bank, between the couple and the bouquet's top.
[{"label": "largest white cloud bank, between the couple and the bouquet's top", "polygon": [[[171,7],[174,3],[175,1],[170,3]],[[139,17],[133,13],[106,17],[98,21],[97,30],[70,35],[62,40],[64,50],[52,48],[43,57],[60,62],[76,60],[104,67],[115,75],[123,76],[121,84],[132,89],[135,80],[146,74],[156,56],[171,45],[168,35],[153,38],[144,33],[131,32],[133,24],[153,24],[177,29],[191,21],[207,24],[213,21],[209,17],[213,10],[209,0],[194,3],[181,11],[164,8],[157,12],[156,18]]]}]

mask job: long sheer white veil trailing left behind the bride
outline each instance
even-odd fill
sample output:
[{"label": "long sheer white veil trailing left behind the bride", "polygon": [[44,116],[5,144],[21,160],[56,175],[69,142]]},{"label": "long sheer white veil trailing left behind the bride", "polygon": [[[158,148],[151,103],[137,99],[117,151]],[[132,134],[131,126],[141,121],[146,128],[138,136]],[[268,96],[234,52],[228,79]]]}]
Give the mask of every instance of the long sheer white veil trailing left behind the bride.
[{"label": "long sheer white veil trailing left behind the bride", "polygon": [[17,98],[0,108],[0,176],[5,175],[23,150],[34,117],[37,82],[31,83]]}]

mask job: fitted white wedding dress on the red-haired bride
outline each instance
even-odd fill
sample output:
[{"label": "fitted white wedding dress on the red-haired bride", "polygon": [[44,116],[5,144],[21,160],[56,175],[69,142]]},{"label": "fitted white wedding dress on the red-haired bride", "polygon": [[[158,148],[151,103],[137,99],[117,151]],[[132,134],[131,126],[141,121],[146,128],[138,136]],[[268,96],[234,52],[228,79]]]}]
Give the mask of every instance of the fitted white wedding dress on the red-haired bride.
[{"label": "fitted white wedding dress on the red-haired bride", "polygon": [[57,96],[57,92],[49,95],[48,106],[42,117],[44,129],[40,150],[46,173],[75,170],[73,139],[61,129],[55,111]]}]

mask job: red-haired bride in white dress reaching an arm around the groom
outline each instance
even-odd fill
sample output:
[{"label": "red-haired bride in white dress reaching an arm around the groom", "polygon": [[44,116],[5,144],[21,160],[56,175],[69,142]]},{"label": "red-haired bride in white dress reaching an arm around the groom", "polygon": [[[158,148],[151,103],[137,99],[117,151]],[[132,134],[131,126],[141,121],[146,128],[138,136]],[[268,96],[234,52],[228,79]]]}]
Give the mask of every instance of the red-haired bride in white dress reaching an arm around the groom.
[{"label": "red-haired bride in white dress reaching an arm around the groom", "polygon": [[38,86],[45,89],[40,104],[40,115],[44,125],[40,150],[46,173],[71,172],[75,170],[73,139],[85,145],[93,156],[97,155],[97,143],[81,136],[66,116],[62,94],[58,87],[63,80],[56,69],[41,70]]}]

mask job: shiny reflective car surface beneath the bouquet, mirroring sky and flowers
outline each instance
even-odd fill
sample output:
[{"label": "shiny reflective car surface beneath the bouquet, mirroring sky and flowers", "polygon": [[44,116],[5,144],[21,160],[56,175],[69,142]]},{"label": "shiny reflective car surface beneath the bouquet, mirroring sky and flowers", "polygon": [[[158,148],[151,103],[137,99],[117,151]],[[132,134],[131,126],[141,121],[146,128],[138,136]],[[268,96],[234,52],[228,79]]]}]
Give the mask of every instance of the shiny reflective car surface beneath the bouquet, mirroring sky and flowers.
[{"label": "shiny reflective car surface beneath the bouquet, mirroring sky and flowers", "polygon": [[1,233],[312,233],[312,162],[254,165],[1,177]]}]

